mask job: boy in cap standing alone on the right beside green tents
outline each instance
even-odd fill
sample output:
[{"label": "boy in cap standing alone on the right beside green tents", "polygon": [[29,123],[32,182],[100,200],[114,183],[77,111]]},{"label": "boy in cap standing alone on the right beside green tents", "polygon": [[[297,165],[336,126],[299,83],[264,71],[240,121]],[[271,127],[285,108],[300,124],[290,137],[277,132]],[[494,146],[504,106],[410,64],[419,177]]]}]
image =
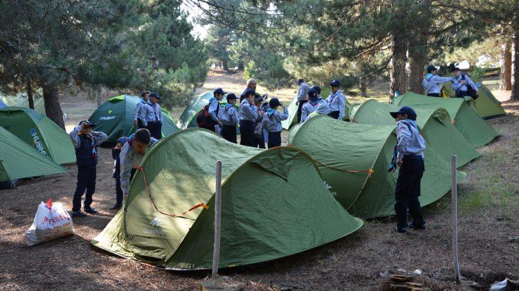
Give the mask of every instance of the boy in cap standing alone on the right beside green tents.
[{"label": "boy in cap standing alone on the right beside green tents", "polygon": [[[411,107],[401,107],[398,112],[390,112],[397,121],[397,145],[389,171],[399,169],[397,187],[394,191],[394,211],[397,216],[397,227],[400,233],[411,229],[426,229],[426,221],[421,213],[418,200],[420,181],[424,175],[424,150],[426,141],[421,136],[416,123],[417,114]],[[408,224],[408,213],[412,223]]]}]

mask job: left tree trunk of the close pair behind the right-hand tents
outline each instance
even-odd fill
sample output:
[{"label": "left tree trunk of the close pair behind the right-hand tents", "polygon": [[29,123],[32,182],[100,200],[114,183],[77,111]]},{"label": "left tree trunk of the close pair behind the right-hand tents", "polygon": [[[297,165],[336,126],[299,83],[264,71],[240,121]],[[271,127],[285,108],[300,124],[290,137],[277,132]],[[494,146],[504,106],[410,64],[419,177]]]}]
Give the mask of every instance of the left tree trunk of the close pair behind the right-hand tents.
[{"label": "left tree trunk of the close pair behind the right-hand tents", "polygon": [[394,97],[396,91],[406,93],[406,36],[401,33],[393,35],[393,55],[390,63],[390,95]]}]

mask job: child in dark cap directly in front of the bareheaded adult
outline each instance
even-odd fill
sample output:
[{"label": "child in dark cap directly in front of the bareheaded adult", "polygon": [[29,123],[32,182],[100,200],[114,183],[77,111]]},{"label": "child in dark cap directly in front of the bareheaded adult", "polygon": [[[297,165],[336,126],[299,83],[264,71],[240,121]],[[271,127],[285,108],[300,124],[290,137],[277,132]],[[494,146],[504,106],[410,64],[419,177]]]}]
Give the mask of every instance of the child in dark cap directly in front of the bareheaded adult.
[{"label": "child in dark cap directly in front of the bareheaded adult", "polygon": [[254,130],[256,126],[256,120],[260,117],[255,105],[256,91],[253,89],[246,89],[244,92],[244,100],[239,104],[238,116],[239,116],[239,133],[241,139],[239,144],[246,146],[255,146],[254,141]]}]

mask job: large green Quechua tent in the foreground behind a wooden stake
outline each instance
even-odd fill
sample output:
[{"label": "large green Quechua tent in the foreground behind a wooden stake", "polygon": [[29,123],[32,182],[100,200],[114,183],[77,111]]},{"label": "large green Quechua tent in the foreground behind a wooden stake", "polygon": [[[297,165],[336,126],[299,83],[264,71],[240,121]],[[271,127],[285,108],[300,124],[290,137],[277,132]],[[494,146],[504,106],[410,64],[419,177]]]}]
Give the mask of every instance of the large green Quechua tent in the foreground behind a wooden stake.
[{"label": "large green Quechua tent in the foreground behind a wooden stake", "polygon": [[[135,175],[124,209],[92,244],[171,270],[210,269],[217,160],[223,179],[219,267],[303,252],[362,225],[338,204],[301,150],[262,151],[190,128],[147,152],[140,164],[145,175]],[[208,209],[188,211],[201,202]]]}]

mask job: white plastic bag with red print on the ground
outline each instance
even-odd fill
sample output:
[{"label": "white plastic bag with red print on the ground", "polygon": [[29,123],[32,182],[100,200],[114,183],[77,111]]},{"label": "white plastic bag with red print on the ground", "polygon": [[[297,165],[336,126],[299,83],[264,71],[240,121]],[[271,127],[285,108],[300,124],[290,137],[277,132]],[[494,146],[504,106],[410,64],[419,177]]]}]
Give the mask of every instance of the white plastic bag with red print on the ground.
[{"label": "white plastic bag with red print on the ground", "polygon": [[37,245],[74,233],[72,218],[60,202],[40,203],[33,221],[25,233],[27,245]]}]

